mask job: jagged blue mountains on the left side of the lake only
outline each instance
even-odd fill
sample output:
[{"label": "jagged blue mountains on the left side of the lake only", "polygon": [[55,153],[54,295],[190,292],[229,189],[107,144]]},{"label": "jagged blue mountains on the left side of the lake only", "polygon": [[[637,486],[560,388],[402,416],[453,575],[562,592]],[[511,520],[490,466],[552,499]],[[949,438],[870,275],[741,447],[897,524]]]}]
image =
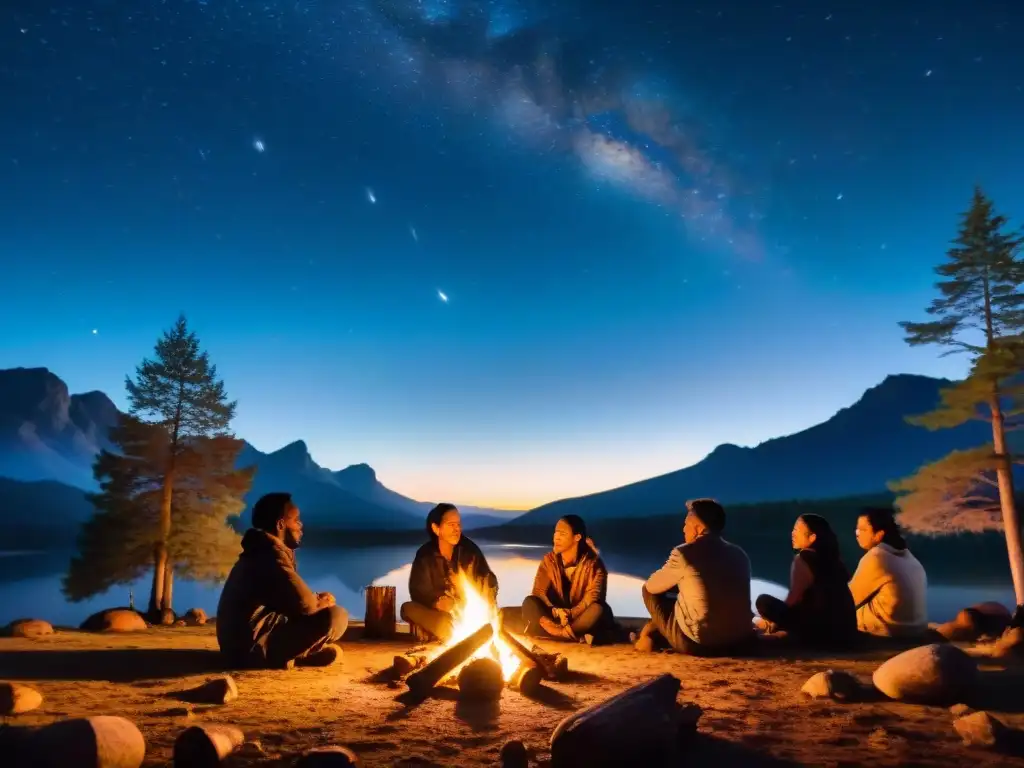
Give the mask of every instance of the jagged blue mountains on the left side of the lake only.
[{"label": "jagged blue mountains on the left side of the lake only", "polygon": [[[54,524],[84,519],[90,507],[69,500],[96,489],[92,462],[101,449],[111,447],[108,434],[118,415],[102,392],[70,394],[68,385],[45,368],[0,370],[0,499],[7,519],[38,527],[41,510]],[[338,471],[322,467],[302,440],[271,453],[246,442],[239,466],[252,465],[257,471],[247,501],[288,490],[310,526],[414,530],[423,526],[434,504],[391,490],[367,464]],[[470,506],[460,510],[467,528],[518,514]]]}]

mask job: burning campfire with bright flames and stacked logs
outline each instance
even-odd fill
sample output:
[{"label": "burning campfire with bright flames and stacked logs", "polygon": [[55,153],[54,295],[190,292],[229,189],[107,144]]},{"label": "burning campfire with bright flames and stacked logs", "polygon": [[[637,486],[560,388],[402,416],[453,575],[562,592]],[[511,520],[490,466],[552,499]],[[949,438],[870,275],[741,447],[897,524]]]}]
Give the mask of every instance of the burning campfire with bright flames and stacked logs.
[{"label": "burning campfire with bright flames and stacked logs", "polygon": [[498,607],[464,573],[458,574],[460,602],[453,611],[452,639],[428,656],[396,656],[395,672],[409,675],[414,693],[427,694],[438,683],[457,678],[465,698],[494,699],[506,686],[535,692],[544,679],[567,669],[563,656],[527,648],[501,626]]}]

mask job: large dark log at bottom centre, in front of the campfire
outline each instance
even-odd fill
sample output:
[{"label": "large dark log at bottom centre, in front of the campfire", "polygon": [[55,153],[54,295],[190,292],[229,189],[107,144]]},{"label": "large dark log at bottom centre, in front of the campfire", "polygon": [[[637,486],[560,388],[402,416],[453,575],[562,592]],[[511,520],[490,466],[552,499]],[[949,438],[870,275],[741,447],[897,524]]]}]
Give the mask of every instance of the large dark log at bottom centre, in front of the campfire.
[{"label": "large dark log at bottom centre, in front of the campfire", "polygon": [[552,768],[674,765],[681,685],[660,675],[565,718],[551,734]]}]

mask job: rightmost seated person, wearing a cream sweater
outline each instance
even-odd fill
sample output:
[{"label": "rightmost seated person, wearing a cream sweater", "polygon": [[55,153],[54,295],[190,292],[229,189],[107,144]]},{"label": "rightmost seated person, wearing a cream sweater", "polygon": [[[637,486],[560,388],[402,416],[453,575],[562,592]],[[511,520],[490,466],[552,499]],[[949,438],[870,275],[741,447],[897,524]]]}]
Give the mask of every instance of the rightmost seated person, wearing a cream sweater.
[{"label": "rightmost seated person, wearing a cream sweater", "polygon": [[907,548],[892,511],[865,509],[857,518],[856,537],[866,550],[850,580],[857,629],[879,637],[924,637],[928,577]]}]

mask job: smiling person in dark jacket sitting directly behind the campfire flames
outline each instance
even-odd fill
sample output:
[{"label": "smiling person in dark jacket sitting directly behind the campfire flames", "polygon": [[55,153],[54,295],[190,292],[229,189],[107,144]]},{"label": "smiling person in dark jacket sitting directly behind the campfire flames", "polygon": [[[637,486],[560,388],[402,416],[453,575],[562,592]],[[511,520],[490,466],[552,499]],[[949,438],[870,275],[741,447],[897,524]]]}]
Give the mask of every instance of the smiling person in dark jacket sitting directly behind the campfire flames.
[{"label": "smiling person in dark jacket sitting directly behind the campfire flames", "polygon": [[462,535],[462,516],[454,504],[438,504],[427,514],[430,540],[416,552],[409,574],[408,603],[399,614],[414,632],[447,642],[454,628],[453,611],[463,596],[460,574],[490,602],[498,599],[498,577],[480,548]]}]

